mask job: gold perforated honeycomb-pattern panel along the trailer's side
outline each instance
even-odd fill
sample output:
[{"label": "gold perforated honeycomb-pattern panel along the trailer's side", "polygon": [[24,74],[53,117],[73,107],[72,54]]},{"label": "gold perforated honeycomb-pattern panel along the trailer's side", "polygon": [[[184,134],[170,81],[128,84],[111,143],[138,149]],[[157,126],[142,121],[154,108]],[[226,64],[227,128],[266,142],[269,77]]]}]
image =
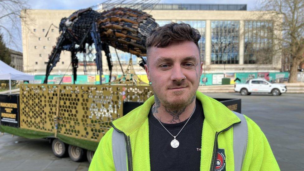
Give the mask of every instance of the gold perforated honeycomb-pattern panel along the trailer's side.
[{"label": "gold perforated honeycomb-pattern panel along the trailer's side", "polygon": [[20,93],[22,128],[91,141],[99,141],[123,115],[123,101],[145,102],[153,95],[150,86],[141,85],[24,84]]}]

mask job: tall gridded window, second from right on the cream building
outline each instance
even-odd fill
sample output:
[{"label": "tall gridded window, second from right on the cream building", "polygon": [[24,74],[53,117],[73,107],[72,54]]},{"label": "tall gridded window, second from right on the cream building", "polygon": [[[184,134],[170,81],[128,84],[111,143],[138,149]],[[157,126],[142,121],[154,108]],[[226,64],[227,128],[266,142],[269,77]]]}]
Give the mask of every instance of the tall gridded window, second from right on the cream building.
[{"label": "tall gridded window, second from right on the cream building", "polygon": [[239,21],[211,21],[211,64],[239,63]]}]

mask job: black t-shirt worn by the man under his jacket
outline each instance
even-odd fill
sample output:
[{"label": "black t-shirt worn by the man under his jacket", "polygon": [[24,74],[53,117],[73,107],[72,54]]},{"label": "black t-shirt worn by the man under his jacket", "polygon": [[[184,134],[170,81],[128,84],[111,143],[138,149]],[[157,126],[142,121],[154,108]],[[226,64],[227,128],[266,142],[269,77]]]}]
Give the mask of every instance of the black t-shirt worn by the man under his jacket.
[{"label": "black t-shirt worn by the man under his jacket", "polygon": [[[159,121],[149,113],[150,165],[152,171],[159,170],[199,170],[201,161],[201,142],[204,113],[202,103],[196,100],[196,109],[176,137],[179,146],[174,149],[174,139]],[[188,119],[176,124],[162,123],[172,135],[177,135]]]}]

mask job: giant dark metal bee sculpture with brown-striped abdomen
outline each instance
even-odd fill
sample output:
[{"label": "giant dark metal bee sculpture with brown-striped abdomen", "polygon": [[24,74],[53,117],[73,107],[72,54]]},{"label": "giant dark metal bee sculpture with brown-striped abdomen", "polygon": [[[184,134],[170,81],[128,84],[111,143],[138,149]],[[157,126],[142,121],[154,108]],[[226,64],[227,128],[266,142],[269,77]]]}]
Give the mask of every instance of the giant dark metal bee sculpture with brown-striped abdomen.
[{"label": "giant dark metal bee sculpture with brown-striped abdomen", "polygon": [[[144,67],[146,64],[143,58],[146,55],[146,38],[150,35],[150,31],[158,26],[151,15],[141,10],[122,7],[114,7],[103,12],[97,12],[92,8],[78,10],[68,18],[61,19],[60,36],[49,56],[44,83],[47,83],[48,76],[59,61],[62,50],[71,52],[75,83],[78,68],[76,53],[85,52],[86,43],[95,46],[95,62],[100,78],[102,75],[101,50],[107,57],[111,78],[113,65],[109,46],[136,55],[142,59],[139,64]],[[100,84],[102,84],[101,80]]]}]

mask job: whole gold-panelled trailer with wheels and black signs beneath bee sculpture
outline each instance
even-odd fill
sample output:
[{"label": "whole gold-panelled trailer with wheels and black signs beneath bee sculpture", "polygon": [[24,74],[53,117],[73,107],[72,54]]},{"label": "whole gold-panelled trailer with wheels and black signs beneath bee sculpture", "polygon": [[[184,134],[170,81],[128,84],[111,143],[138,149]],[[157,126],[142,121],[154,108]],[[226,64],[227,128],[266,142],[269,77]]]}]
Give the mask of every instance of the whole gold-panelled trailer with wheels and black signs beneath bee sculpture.
[{"label": "whole gold-panelled trailer with wheels and black signs beneath bee sculpture", "polygon": [[[0,95],[0,131],[45,138],[57,157],[91,162],[111,123],[153,96],[150,85],[22,84]],[[240,99],[216,99],[241,112]]]}]

